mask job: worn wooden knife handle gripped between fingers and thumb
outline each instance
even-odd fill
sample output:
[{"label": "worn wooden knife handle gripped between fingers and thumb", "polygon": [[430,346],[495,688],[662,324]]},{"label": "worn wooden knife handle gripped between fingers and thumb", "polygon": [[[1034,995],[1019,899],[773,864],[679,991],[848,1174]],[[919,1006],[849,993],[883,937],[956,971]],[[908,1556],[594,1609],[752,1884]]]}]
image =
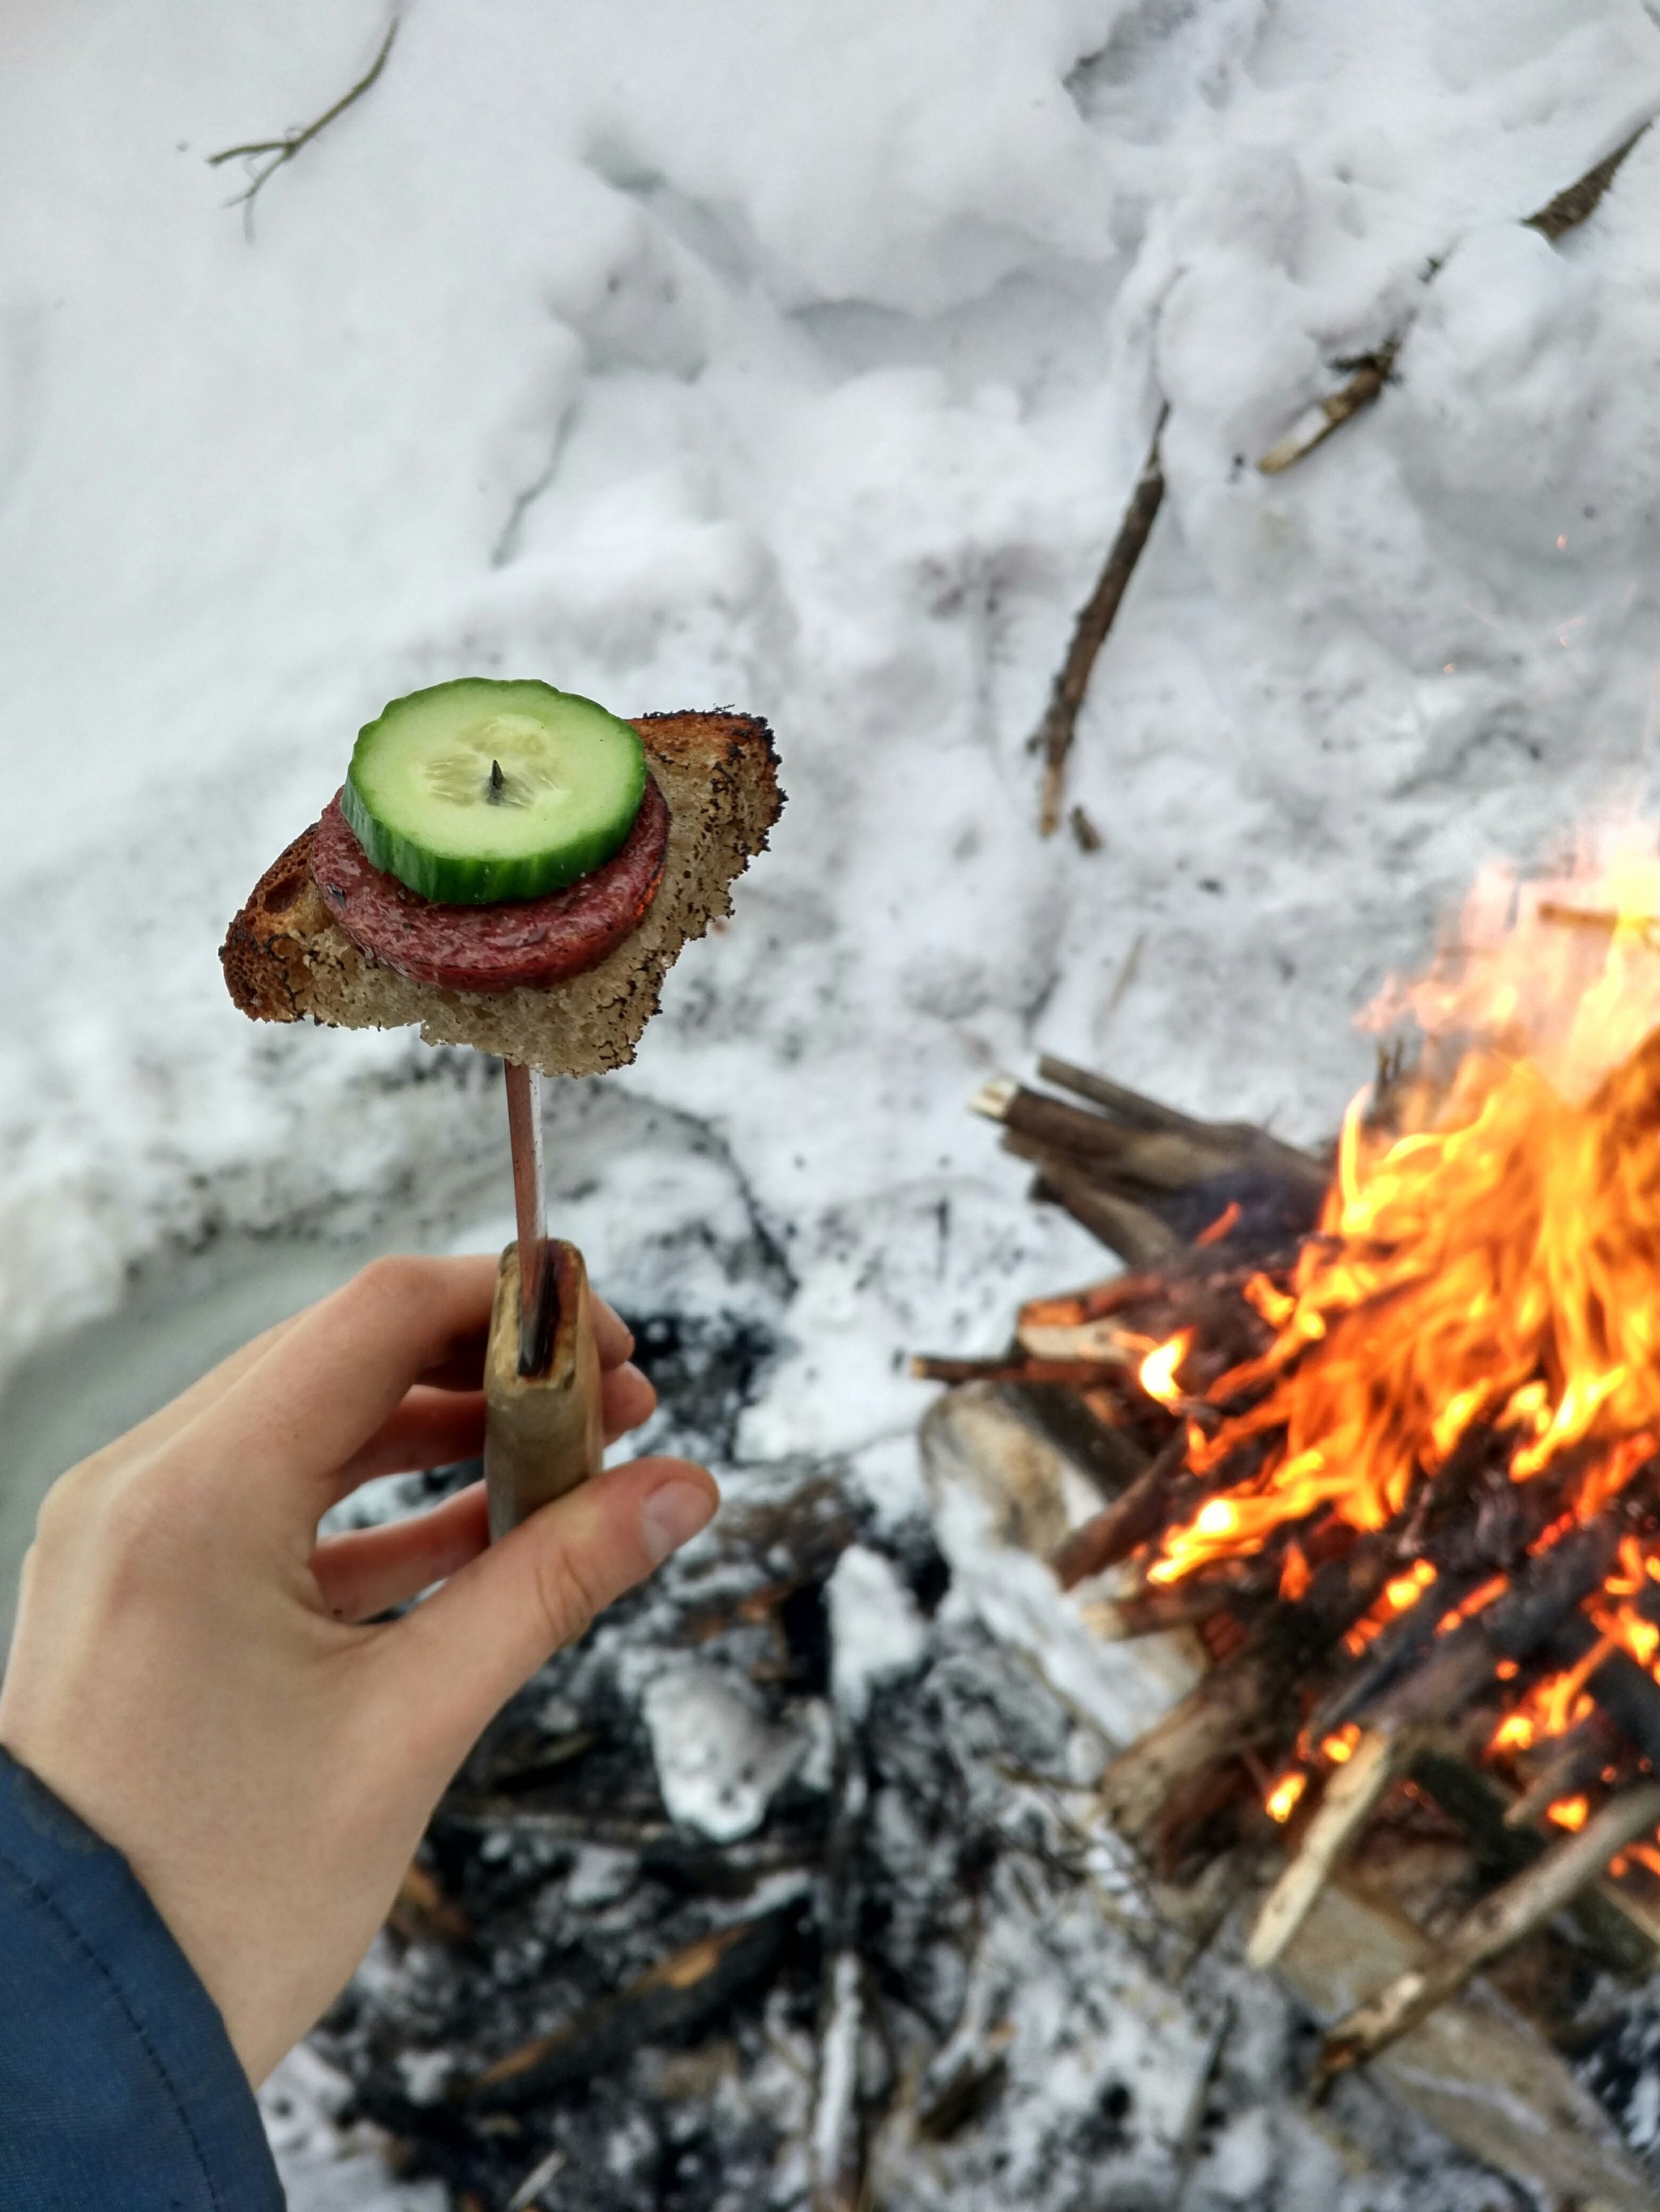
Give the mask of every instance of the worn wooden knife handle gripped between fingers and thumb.
[{"label": "worn wooden knife handle gripped between fingers and thumb", "polygon": [[600,1473],[604,1431],[589,1270],[551,1243],[553,1352],[547,1374],[518,1371],[518,1245],[502,1252],[485,1354],[485,1495],[491,1540]]}]

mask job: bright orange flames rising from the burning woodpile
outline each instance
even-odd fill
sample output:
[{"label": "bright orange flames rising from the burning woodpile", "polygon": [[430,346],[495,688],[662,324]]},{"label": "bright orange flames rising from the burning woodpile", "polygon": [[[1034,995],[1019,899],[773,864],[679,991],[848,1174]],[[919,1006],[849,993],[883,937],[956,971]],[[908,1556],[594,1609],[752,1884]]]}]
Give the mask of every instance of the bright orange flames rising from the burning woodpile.
[{"label": "bright orange flames rising from the burning woodpile", "polygon": [[[1412,1018],[1419,1071],[1383,1102],[1388,1128],[1350,1106],[1321,1234],[1286,1285],[1246,1285],[1275,1340],[1211,1387],[1213,1433],[1189,1429],[1195,1473],[1226,1480],[1257,1438],[1266,1460],[1166,1533],[1149,1579],[1259,1551],[1319,1509],[1383,1528],[1476,1425],[1516,1482],[1576,1449],[1578,1517],[1653,1458],[1658,918],[1660,841],[1605,827],[1547,880],[1487,872],[1430,971],[1388,987],[1370,1026]],[[1142,1365],[1166,1405],[1184,1354]],[[1660,1635],[1629,1606],[1618,1619],[1598,1628],[1649,1666]]]}]

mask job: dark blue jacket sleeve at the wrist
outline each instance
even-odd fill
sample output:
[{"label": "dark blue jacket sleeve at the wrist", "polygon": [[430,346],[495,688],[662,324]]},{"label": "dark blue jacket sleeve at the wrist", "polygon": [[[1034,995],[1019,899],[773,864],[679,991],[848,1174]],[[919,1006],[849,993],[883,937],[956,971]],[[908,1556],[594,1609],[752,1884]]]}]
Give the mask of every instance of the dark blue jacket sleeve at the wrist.
[{"label": "dark blue jacket sleeve at the wrist", "polygon": [[283,2205],[212,1997],[122,1854],[2,1750],[0,2205]]}]

